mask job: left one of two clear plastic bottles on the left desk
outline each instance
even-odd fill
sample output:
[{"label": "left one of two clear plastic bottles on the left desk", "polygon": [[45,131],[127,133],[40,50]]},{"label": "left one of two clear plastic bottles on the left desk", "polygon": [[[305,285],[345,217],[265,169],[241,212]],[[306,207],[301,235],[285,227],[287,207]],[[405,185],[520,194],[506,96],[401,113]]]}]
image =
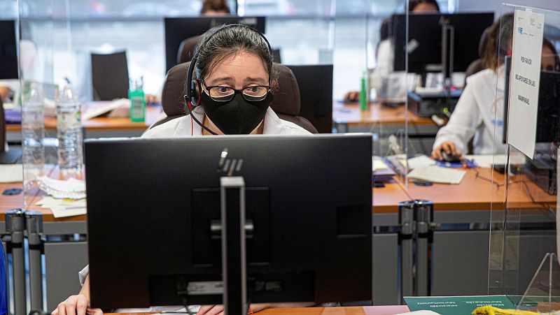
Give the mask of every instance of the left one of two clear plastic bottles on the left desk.
[{"label": "left one of two clear plastic bottles on the left desk", "polygon": [[41,86],[31,83],[22,100],[22,136],[24,183],[29,189],[43,175],[45,165],[45,103]]}]

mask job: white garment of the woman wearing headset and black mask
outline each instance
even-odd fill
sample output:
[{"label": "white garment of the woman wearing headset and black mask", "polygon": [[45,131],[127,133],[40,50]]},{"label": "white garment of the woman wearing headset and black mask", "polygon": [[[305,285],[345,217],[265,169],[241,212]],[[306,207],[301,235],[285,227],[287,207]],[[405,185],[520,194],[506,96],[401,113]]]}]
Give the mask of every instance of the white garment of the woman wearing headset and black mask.
[{"label": "white garment of the woman wearing headset and black mask", "polygon": [[[193,115],[202,122],[204,119],[204,110],[202,107],[197,107],[193,110]],[[262,133],[265,135],[311,135],[309,131],[303,129],[293,122],[287,122],[286,120],[280,119],[278,115],[272,110],[272,108],[267,109],[267,113],[264,119],[265,126],[263,127]],[[188,137],[191,135],[191,121],[190,116],[183,116],[165,124],[160,124],[146,131],[142,138],[180,138]],[[202,135],[202,127],[194,122],[193,134],[192,135]],[[80,277],[80,284],[83,285],[85,277],[90,273],[90,265],[85,266],[78,275]],[[183,309],[181,306],[176,307],[151,307],[149,309],[118,309],[118,312],[124,313],[134,313],[134,312],[160,312],[160,311],[177,311]],[[191,312],[198,312],[198,309],[191,309]]]}]

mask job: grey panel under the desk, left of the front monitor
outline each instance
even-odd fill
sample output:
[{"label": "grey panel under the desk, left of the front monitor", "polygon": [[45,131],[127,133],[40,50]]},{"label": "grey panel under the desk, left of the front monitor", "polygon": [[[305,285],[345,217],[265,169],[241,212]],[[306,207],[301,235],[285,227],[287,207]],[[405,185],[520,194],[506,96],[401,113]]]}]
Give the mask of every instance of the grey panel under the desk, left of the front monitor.
[{"label": "grey panel under the desk, left of the front monitor", "polygon": [[87,242],[45,243],[47,310],[80,291],[78,272],[87,265]]}]

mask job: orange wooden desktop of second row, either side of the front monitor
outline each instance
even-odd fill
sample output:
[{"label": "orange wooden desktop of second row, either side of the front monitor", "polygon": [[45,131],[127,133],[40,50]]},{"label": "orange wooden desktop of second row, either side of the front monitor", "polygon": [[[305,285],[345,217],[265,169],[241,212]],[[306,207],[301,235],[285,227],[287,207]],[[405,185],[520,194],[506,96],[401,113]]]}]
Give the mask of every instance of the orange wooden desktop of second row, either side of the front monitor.
[{"label": "orange wooden desktop of second row, either side of the front monitor", "polygon": [[[372,212],[395,213],[397,204],[404,200],[426,199],[434,202],[434,210],[503,210],[505,208],[505,175],[492,172],[490,169],[467,170],[461,184],[433,184],[433,186],[416,186],[412,182],[405,188],[398,179],[385,184],[383,188],[372,189]],[[494,176],[493,183],[488,180]],[[484,179],[483,179],[484,178]],[[549,195],[524,175],[510,178],[509,200],[512,208],[542,209],[556,206],[556,196]],[[22,188],[22,183],[0,184],[0,190]],[[38,192],[36,198],[44,196]],[[23,207],[22,194],[17,196],[0,196],[0,221],[5,219],[7,210]],[[55,219],[52,212],[41,207],[31,210],[43,212],[43,221],[85,221],[86,216],[65,217]]]}]

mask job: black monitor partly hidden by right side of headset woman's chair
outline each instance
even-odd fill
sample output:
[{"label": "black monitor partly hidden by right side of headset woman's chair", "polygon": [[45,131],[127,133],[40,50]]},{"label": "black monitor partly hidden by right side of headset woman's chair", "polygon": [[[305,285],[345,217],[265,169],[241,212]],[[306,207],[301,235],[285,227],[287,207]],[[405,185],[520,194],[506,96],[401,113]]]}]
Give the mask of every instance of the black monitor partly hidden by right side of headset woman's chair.
[{"label": "black monitor partly hidden by right side of headset woman's chair", "polygon": [[298,116],[309,120],[319,133],[332,133],[332,64],[287,67],[300,88]]}]

